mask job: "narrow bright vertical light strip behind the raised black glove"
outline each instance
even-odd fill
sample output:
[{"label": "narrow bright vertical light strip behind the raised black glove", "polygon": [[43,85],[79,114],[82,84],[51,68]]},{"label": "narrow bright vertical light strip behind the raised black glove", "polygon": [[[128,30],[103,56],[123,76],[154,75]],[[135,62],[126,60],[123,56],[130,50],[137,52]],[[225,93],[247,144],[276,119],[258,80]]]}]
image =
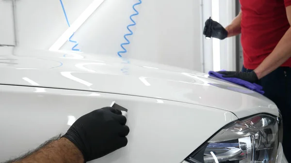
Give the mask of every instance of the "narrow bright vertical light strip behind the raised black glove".
[{"label": "narrow bright vertical light strip behind the raised black glove", "polygon": [[[219,22],[219,0],[212,0],[212,19]],[[212,39],[213,71],[220,71],[220,40]]]}]

